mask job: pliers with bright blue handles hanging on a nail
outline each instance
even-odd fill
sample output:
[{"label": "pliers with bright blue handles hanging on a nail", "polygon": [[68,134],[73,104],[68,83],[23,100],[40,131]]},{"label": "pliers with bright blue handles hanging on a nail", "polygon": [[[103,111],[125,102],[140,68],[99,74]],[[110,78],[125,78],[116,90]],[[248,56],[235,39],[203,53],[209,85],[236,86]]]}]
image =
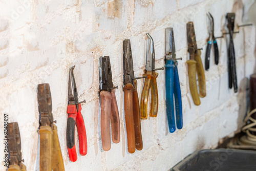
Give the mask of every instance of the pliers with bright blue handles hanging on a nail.
[{"label": "pliers with bright blue handles hanging on a nail", "polygon": [[176,130],[174,117],[174,98],[176,109],[177,128],[182,129],[182,101],[180,91],[180,80],[178,74],[178,59],[175,54],[174,30],[173,28],[165,29],[165,87],[166,87],[166,114],[169,125],[169,132],[174,133]]}]

